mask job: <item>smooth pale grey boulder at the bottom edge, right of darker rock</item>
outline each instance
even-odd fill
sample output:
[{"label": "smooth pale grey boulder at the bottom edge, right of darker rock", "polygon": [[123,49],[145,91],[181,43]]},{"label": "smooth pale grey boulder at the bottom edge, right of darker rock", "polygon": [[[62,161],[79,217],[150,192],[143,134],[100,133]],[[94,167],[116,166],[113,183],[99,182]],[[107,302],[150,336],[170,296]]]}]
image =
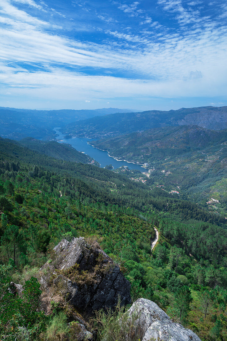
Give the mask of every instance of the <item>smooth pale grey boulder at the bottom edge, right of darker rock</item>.
[{"label": "smooth pale grey boulder at the bottom edge, right of darker rock", "polygon": [[148,299],[139,298],[126,313],[129,318],[138,314],[134,326],[139,330],[141,341],[201,341],[192,330],[172,322],[156,303]]}]

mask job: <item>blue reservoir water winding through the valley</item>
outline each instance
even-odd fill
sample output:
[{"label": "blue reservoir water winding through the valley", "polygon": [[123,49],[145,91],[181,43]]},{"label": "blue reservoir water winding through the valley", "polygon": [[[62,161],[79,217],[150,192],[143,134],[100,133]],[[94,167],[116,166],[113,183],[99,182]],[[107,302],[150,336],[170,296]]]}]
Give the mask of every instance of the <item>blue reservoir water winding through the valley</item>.
[{"label": "blue reservoir water winding through the valley", "polygon": [[134,164],[132,162],[127,162],[123,160],[116,160],[108,155],[106,150],[100,150],[98,148],[92,147],[88,144],[88,142],[94,140],[92,138],[86,137],[72,137],[72,138],[64,138],[64,134],[59,131],[60,127],[54,128],[56,133],[59,135],[59,143],[69,143],[76,150],[83,152],[85,154],[90,155],[93,159],[100,163],[101,167],[105,167],[106,165],[111,164],[114,169],[119,168],[121,166],[127,166],[129,169],[137,169],[140,172],[146,172],[146,169],[141,167],[138,164]]}]

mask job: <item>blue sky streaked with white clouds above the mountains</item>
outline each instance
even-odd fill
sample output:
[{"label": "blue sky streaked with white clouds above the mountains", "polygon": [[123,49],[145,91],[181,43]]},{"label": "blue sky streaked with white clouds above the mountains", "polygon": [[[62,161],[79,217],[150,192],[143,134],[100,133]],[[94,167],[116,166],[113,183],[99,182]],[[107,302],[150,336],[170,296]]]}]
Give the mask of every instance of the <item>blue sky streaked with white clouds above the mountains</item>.
[{"label": "blue sky streaked with white clouds above the mountains", "polygon": [[227,105],[227,0],[0,0],[0,106]]}]

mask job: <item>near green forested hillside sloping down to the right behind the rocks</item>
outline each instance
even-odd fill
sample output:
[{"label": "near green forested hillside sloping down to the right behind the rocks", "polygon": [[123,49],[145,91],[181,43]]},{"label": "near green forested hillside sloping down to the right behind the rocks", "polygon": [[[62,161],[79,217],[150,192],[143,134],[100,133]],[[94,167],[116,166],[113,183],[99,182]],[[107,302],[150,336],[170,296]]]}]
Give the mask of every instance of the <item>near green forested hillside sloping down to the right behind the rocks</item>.
[{"label": "near green forested hillside sloping down to the right behind the rocks", "polygon": [[[1,338],[22,340],[24,333],[47,340],[52,330],[53,340],[66,334],[73,340],[66,324],[69,303],[52,302],[48,315],[36,310],[35,278],[63,237],[83,236],[98,240],[120,265],[133,301],[152,299],[203,341],[226,340],[224,216],[110,170],[62,162],[7,139],[0,139],[0,181]],[[151,252],[154,227],[159,239]],[[7,291],[12,280],[25,288],[17,300]]]}]

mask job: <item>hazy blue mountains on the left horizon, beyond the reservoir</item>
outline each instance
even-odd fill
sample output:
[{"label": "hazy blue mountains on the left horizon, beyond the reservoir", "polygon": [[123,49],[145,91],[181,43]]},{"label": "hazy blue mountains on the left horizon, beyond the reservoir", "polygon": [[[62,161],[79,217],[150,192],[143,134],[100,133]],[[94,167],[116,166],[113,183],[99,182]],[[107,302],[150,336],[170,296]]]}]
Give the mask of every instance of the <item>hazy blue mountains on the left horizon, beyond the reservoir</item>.
[{"label": "hazy blue mountains on the left horizon, beyond the reservoir", "polygon": [[52,139],[52,130],[70,122],[94,116],[125,113],[131,109],[102,108],[94,110],[30,110],[0,107],[0,136],[19,140],[27,136]]}]

